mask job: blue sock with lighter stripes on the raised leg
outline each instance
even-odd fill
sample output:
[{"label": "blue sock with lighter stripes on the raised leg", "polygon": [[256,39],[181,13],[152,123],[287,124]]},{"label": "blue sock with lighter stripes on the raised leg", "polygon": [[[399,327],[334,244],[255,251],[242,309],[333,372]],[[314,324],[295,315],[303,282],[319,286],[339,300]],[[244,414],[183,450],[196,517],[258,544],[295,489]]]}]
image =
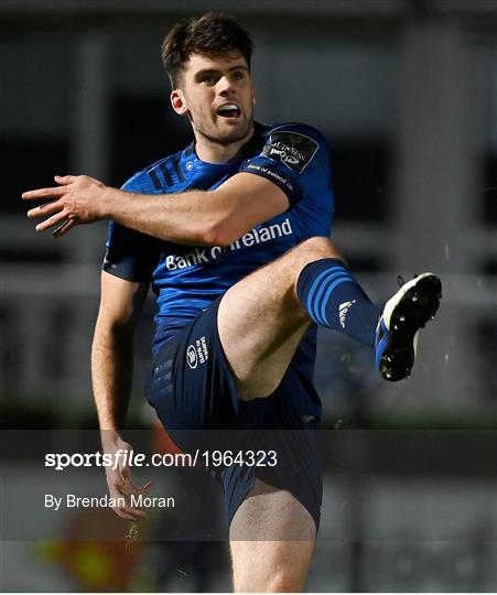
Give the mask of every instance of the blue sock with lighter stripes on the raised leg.
[{"label": "blue sock with lighter stripes on the raised leg", "polygon": [[382,310],[369,300],[341,260],[324,258],[304,267],[296,294],[302,307],[318,325],[375,346]]}]

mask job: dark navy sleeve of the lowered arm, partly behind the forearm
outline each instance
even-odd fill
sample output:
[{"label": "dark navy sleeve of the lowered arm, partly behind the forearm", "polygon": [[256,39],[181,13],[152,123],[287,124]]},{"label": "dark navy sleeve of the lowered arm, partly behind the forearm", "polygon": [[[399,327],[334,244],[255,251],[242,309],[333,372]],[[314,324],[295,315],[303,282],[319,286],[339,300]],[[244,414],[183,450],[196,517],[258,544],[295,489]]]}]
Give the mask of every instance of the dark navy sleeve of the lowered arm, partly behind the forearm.
[{"label": "dark navy sleeve of the lowered arm, partly behind the forearm", "polygon": [[[137,177],[131,177],[121,190],[141,193]],[[160,259],[159,240],[110,221],[106,248],[104,271],[127,281],[145,283],[152,280]]]}]

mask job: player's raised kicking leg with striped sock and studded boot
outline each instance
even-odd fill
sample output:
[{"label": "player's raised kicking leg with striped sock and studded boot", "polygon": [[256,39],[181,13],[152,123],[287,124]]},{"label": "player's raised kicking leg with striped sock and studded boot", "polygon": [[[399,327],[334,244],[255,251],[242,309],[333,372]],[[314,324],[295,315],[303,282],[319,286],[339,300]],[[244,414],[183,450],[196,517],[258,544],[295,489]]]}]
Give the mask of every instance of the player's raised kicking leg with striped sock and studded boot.
[{"label": "player's raised kicking leg with striped sock and studded boot", "polygon": [[406,378],[417,333],[436,312],[441,285],[425,273],[406,286],[383,312],[322,237],[239,281],[219,304],[218,328],[240,397],[267,397],[278,387],[311,320],[375,347],[383,378]]}]

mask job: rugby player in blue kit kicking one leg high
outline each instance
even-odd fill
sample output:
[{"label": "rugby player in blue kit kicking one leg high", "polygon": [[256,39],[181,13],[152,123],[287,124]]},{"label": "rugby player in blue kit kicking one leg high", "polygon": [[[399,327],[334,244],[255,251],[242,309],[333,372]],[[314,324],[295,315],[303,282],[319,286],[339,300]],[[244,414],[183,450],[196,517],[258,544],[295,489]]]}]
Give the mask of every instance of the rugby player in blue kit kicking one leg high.
[{"label": "rugby player in blue kit kicking one leg high", "polygon": [[[36,226],[109,219],[93,378],[102,446],[120,436],[132,335],[149,284],[156,295],[148,399],[177,445],[181,430],[315,430],[312,383],[317,325],[370,345],[387,380],[408,377],[418,331],[436,312],[441,283],[424,273],[374,304],[329,239],[333,193],[326,140],[303,123],[261,125],[250,75],[252,42],[228,14],[176,24],[162,46],[171,105],[188,118],[186,149],[121,190],[85,175],[55,176]],[[320,522],[316,432],[282,440],[271,468],[220,474],[230,523],[235,591],[300,591]],[[275,435],[275,434],[273,434]],[[294,434],[291,434],[294,435]],[[112,496],[144,494],[130,469],[108,470]],[[127,519],[143,512],[117,509]]]}]

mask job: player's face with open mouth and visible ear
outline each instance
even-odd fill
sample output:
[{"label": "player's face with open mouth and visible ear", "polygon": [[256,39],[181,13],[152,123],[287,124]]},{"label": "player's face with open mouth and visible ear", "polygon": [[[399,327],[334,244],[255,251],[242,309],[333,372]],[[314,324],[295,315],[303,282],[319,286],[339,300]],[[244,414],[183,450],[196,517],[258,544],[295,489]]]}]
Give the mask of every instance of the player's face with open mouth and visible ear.
[{"label": "player's face with open mouth and visible ear", "polygon": [[229,145],[248,139],[255,93],[247,62],[237,53],[226,57],[193,54],[171,104],[176,113],[188,116],[197,141]]}]

